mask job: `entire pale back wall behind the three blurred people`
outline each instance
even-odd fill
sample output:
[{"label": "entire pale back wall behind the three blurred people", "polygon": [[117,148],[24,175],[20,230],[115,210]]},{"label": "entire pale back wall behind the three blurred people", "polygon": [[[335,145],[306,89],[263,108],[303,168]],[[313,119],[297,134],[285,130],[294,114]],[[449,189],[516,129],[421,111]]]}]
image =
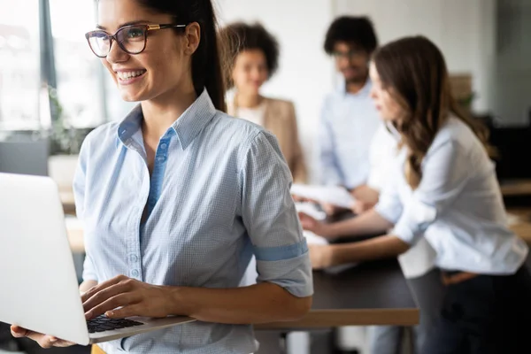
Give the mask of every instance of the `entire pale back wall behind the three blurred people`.
[{"label": "entire pale back wall behind the three blurred people", "polygon": [[[322,50],[322,43],[327,27],[336,16],[369,16],[373,19],[381,44],[404,35],[426,35],[443,50],[450,73],[472,73],[473,90],[477,95],[473,103],[476,112],[491,112],[493,109],[496,112],[498,107],[508,105],[499,103],[498,85],[503,77],[496,74],[499,71],[496,59],[496,0],[217,2],[221,24],[235,20],[259,20],[281,43],[280,70],[266,84],[264,93],[295,102],[304,152],[313,168],[313,176],[316,175],[316,164],[313,163],[316,151],[312,142],[317,133],[320,105],[337,79],[332,61]],[[504,91],[510,85],[507,82]],[[520,92],[521,95],[524,94]],[[503,118],[505,124],[516,119],[514,114],[506,116]]]}]

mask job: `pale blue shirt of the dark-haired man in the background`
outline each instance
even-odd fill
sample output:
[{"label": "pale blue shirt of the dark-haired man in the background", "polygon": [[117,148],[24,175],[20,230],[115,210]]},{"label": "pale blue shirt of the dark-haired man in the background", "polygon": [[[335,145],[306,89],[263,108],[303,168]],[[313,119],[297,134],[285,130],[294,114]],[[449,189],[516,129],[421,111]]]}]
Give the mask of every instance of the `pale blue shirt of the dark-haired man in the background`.
[{"label": "pale blue shirt of the dark-haired man in the background", "polygon": [[370,92],[370,80],[356,94],[344,82],[328,95],[319,121],[321,182],[353,189],[366,183],[370,171],[369,150],[381,122]]}]

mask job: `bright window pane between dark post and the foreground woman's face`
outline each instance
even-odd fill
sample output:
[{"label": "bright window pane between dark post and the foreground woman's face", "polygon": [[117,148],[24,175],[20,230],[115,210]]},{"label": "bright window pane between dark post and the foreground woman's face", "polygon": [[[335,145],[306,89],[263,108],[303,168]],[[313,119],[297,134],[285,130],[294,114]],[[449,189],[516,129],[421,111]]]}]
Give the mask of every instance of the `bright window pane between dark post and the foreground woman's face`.
[{"label": "bright window pane between dark post and the foreground woman's face", "polygon": [[96,26],[96,4],[50,0],[50,23],[58,100],[65,119],[73,127],[96,127],[107,120],[104,68],[85,40],[85,33]]}]

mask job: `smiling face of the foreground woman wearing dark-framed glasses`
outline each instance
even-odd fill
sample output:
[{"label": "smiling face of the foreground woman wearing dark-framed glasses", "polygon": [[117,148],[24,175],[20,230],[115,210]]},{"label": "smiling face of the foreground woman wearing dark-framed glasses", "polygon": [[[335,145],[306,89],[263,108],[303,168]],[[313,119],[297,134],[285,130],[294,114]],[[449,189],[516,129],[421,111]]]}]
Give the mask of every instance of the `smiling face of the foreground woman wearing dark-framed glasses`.
[{"label": "smiling face of the foreground woman wearing dark-framed glasses", "polygon": [[[172,16],[150,12],[135,0],[100,0],[98,27],[115,34],[128,24],[158,25],[173,23]],[[128,54],[115,41],[103,65],[111,73],[119,93],[126,101],[152,100],[183,92],[191,81],[189,27],[180,35],[173,29],[148,31],[145,49],[140,54]],[[133,38],[138,33],[127,34]]]}]

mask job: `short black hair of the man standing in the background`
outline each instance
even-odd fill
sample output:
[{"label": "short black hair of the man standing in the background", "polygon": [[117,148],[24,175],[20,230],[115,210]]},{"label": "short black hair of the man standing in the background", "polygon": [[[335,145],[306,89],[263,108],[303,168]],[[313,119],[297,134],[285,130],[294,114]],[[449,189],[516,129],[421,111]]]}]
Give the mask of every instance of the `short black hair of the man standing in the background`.
[{"label": "short black hair of the man standing in the background", "polygon": [[371,55],[378,46],[373,22],[367,17],[342,16],[334,20],[327,30],[325,51],[334,53],[337,42],[353,43]]}]

